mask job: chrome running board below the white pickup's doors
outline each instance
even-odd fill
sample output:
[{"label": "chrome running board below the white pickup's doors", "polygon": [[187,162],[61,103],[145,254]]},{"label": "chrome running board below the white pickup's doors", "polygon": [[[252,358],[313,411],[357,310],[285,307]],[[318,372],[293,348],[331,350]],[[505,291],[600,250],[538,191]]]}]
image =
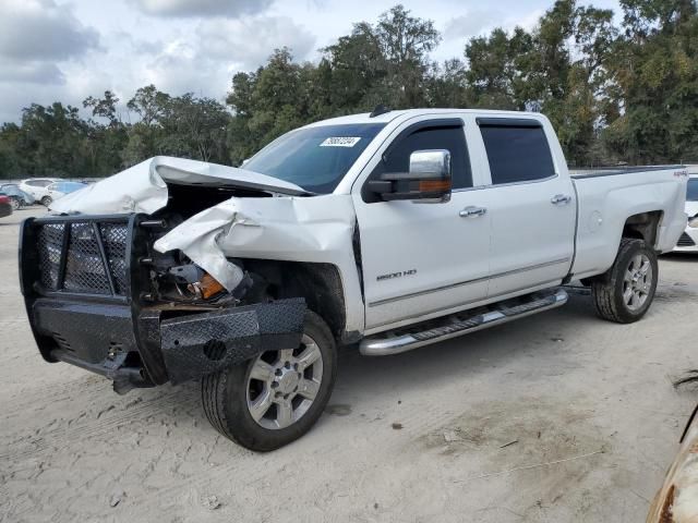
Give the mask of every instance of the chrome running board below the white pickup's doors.
[{"label": "chrome running board below the white pickup's doors", "polygon": [[[399,354],[400,352],[407,352],[420,346],[431,345],[433,343],[438,343],[441,341],[457,338],[470,332],[476,332],[489,327],[494,327],[495,325],[506,324],[508,321],[524,318],[532,314],[542,313],[544,311],[550,311],[551,308],[559,307],[567,303],[567,292],[565,292],[564,289],[557,289],[554,294],[545,297],[540,297],[538,301],[541,302],[541,306],[539,307],[526,311],[524,313],[510,315],[506,314],[506,308],[503,308],[501,311],[490,311],[470,318],[479,321],[478,325],[473,327],[455,332],[448,332],[446,335],[437,336],[428,340],[418,340],[412,335],[405,335],[395,338],[365,338],[359,344],[359,351],[364,356],[387,356],[392,354]],[[531,303],[534,302],[535,301],[531,301]]]}]

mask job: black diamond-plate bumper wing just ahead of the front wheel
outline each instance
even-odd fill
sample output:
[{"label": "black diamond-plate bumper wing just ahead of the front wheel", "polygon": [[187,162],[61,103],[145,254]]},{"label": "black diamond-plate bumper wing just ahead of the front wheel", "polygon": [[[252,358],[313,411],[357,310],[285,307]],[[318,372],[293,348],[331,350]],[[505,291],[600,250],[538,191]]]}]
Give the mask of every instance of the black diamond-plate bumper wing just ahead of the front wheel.
[{"label": "black diamond-plate bumper wing just ahead of the front wheel", "polygon": [[305,301],[279,300],[160,323],[167,374],[173,385],[201,378],[264,351],[301,343]]}]

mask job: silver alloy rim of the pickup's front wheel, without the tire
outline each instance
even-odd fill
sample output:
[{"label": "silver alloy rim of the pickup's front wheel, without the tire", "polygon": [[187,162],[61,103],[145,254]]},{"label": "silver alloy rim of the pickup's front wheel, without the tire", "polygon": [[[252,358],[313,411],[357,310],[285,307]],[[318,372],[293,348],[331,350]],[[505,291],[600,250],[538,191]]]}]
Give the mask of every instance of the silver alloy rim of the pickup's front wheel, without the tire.
[{"label": "silver alloy rim of the pickup's front wheel, without the tire", "polygon": [[248,374],[250,415],[264,428],[286,428],[311,408],[322,379],[323,356],[308,335],[298,349],[264,352]]}]

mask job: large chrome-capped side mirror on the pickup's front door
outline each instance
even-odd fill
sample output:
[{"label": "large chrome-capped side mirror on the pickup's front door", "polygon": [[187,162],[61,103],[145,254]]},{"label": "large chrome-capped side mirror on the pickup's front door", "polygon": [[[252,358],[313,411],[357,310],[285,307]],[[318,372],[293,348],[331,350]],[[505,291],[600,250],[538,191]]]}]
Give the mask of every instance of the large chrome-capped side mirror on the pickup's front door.
[{"label": "large chrome-capped side mirror on the pickup's front door", "polygon": [[369,181],[369,190],[385,202],[448,202],[450,187],[450,153],[445,149],[416,150],[410,155],[409,172],[386,172]]}]

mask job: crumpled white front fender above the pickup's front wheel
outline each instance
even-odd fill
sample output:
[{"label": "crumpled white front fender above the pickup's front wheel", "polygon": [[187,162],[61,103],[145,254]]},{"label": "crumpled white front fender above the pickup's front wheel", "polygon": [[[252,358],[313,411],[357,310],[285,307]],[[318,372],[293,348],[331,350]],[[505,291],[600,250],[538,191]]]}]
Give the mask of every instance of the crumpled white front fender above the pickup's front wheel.
[{"label": "crumpled white front fender above the pickup's front wheel", "polygon": [[[179,224],[154,245],[182,251],[232,291],[240,268],[228,258],[325,263],[338,267],[347,303],[362,304],[349,195],[230,198]],[[347,331],[363,329],[363,307],[347,307]]]}]

